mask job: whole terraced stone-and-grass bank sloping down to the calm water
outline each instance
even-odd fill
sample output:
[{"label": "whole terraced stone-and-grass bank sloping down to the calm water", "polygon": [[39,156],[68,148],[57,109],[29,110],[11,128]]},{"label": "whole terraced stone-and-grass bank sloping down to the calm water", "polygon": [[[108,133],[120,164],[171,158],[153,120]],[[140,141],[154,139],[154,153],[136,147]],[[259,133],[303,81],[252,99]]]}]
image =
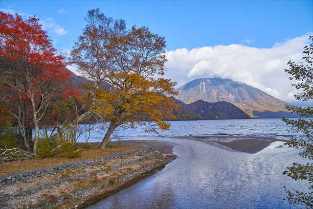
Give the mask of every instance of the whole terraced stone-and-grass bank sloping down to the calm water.
[{"label": "whole terraced stone-and-grass bank sloping down to the calm water", "polygon": [[152,175],[176,157],[143,147],[8,174],[0,178],[0,208],[84,208]]}]

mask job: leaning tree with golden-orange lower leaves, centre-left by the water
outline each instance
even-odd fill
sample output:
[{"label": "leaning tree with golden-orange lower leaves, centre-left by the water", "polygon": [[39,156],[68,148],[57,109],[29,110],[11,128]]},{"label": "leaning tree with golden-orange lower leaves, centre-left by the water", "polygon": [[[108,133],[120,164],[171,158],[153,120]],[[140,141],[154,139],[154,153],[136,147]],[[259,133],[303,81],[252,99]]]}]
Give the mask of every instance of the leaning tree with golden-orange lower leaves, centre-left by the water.
[{"label": "leaning tree with golden-orange lower leaves, centre-left by the water", "polygon": [[141,119],[148,121],[147,131],[169,129],[170,124],[162,119],[173,118],[177,105],[166,96],[176,94],[175,83],[159,77],[167,61],[164,37],[144,26],[126,30],[123,20],[107,18],[99,9],[90,10],[86,21],[71,62],[93,81],[93,111],[109,122],[100,148],[117,127],[145,125]]}]

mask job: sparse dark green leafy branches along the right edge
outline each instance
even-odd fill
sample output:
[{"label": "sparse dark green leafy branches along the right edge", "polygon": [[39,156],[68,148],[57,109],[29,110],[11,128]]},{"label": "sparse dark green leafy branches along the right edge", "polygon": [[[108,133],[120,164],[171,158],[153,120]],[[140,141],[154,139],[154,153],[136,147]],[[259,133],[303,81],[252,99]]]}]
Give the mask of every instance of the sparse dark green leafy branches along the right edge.
[{"label": "sparse dark green leafy branches along the right edge", "polygon": [[[290,80],[296,80],[292,84],[297,90],[301,90],[295,96],[297,100],[313,100],[313,36],[310,37],[312,44],[304,47],[304,62],[296,64],[289,61],[290,69],[285,70],[291,75]],[[298,190],[287,190],[289,203],[292,205],[305,205],[306,208],[313,208],[313,107],[288,107],[292,113],[299,115],[299,119],[283,120],[291,126],[296,133],[302,133],[305,137],[292,137],[286,144],[289,147],[299,149],[299,156],[305,158],[307,163],[293,163],[287,167],[283,174],[290,176],[294,180],[307,180],[309,192]]]}]

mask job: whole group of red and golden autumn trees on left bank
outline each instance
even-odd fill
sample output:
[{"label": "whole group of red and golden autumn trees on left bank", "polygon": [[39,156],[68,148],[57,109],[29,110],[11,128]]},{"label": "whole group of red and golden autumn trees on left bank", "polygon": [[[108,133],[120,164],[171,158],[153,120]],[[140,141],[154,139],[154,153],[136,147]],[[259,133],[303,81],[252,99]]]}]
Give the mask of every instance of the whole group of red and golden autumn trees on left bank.
[{"label": "whole group of red and golden autumn trees on left bank", "polygon": [[146,131],[157,133],[169,129],[164,120],[175,118],[172,112],[179,105],[168,95],[176,94],[176,83],[161,77],[165,38],[145,26],[127,29],[124,20],[108,18],[99,9],[90,10],[85,20],[69,57],[84,83],[73,86],[66,58],[52,46],[39,19],[0,12],[0,111],[10,116],[0,117],[0,123],[13,121],[35,155],[40,129],[47,132],[49,125],[57,139],[75,142],[79,124],[95,116],[109,124],[104,148],[117,127],[147,125]]}]

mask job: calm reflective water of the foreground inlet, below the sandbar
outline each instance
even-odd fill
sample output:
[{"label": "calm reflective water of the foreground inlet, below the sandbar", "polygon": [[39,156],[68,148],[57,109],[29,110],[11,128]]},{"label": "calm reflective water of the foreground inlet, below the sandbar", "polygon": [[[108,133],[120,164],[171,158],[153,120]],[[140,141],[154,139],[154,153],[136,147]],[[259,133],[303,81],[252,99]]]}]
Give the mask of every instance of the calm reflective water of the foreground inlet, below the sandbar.
[{"label": "calm reflective water of the foreground inlet, below the sandbar", "polygon": [[297,151],[274,142],[256,153],[229,152],[189,139],[163,138],[178,159],[156,174],[89,209],[293,208],[283,186],[304,188],[282,175]]}]

